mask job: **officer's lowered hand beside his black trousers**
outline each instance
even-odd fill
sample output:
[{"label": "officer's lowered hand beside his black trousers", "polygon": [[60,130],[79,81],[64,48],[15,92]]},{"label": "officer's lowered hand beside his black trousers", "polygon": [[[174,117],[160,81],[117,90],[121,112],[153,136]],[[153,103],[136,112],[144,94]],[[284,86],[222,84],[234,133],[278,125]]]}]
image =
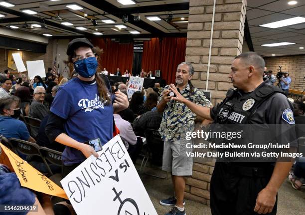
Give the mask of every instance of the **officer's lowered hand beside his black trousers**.
[{"label": "officer's lowered hand beside his black trousers", "polygon": [[268,188],[261,190],[257,195],[254,211],[258,214],[271,213],[277,199],[277,192]]}]

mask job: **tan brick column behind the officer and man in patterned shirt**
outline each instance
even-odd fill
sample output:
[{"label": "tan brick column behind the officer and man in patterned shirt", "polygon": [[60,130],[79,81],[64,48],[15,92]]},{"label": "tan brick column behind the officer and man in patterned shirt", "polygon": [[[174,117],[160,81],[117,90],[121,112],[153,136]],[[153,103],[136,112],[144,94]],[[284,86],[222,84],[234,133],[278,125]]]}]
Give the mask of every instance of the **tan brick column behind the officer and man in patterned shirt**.
[{"label": "tan brick column behind the officer and man in patterned shirt", "polygon": [[[193,64],[192,83],[205,89],[214,0],[190,0],[185,60]],[[208,90],[212,103],[222,101],[232,88],[228,73],[242,52],[246,0],[216,0]],[[186,179],[185,198],[209,204],[214,162],[194,159],[193,176]]]}]

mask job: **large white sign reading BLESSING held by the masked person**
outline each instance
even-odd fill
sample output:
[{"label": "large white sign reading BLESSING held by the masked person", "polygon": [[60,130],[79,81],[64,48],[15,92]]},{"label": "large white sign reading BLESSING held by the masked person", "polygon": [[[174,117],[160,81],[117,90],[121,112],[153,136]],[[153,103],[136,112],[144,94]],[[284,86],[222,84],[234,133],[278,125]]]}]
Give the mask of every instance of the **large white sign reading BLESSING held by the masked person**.
[{"label": "large white sign reading BLESSING held by the masked person", "polygon": [[119,135],[61,180],[77,215],[157,215]]}]

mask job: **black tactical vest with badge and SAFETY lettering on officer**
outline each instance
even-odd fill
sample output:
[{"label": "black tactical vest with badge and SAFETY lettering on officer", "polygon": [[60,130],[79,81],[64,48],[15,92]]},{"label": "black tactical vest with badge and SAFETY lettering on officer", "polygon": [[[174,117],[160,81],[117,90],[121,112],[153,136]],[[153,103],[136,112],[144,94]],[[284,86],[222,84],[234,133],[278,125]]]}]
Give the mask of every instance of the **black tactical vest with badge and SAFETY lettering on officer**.
[{"label": "black tactical vest with badge and SAFETY lettering on officer", "polygon": [[217,108],[214,123],[249,124],[249,120],[256,109],[275,93],[282,93],[287,96],[280,88],[266,83],[244,96],[239,96],[238,90],[229,89],[226,98]]}]

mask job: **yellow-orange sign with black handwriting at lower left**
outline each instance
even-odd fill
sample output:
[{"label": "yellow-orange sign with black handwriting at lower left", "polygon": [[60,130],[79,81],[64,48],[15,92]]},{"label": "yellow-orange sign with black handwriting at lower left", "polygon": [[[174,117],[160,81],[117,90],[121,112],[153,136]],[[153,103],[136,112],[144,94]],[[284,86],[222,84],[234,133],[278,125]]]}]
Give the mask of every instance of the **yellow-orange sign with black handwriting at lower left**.
[{"label": "yellow-orange sign with black handwriting at lower left", "polygon": [[51,196],[68,199],[64,190],[41,174],[38,170],[22,160],[18,155],[10,151],[0,143],[2,152],[6,154],[8,160],[16,173],[22,187],[32,189]]}]

